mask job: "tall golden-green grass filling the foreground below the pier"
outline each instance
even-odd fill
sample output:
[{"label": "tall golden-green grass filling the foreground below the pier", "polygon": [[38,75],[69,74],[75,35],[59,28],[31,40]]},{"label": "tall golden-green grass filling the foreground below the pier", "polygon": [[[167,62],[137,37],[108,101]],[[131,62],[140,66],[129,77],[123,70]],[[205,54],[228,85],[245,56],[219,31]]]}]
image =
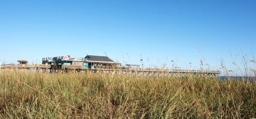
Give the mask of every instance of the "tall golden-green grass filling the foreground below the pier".
[{"label": "tall golden-green grass filling the foreground below the pier", "polygon": [[256,82],[0,72],[1,118],[252,118]]}]

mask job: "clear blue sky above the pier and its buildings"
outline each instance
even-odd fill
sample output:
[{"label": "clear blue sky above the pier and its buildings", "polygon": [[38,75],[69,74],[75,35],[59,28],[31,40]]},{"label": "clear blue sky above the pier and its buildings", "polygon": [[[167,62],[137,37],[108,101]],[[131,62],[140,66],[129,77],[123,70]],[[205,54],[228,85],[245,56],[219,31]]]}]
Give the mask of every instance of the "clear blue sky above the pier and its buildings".
[{"label": "clear blue sky above the pier and its buildings", "polygon": [[[198,70],[202,60],[204,70],[219,70],[222,61],[234,72],[255,60],[255,6],[236,0],[0,0],[0,60],[42,63],[43,57],[88,53],[123,64],[143,59],[151,68]],[[256,69],[255,62],[247,67]]]}]

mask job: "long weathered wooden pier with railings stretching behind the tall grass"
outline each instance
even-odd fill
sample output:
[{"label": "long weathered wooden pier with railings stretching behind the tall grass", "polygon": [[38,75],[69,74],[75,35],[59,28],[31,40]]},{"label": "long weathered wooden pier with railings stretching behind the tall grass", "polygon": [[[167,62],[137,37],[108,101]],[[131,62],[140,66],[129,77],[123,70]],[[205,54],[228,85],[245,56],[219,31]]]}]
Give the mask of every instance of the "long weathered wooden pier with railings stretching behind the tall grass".
[{"label": "long weathered wooden pier with railings stretching behind the tall grass", "polygon": [[205,70],[169,70],[169,69],[84,69],[80,65],[61,65],[56,67],[49,64],[7,64],[1,65],[1,69],[27,69],[35,70],[37,72],[84,72],[84,73],[103,73],[103,74],[119,74],[119,75],[141,75],[149,77],[184,77],[186,75],[207,75],[209,77],[218,77],[220,71],[205,71]]}]

